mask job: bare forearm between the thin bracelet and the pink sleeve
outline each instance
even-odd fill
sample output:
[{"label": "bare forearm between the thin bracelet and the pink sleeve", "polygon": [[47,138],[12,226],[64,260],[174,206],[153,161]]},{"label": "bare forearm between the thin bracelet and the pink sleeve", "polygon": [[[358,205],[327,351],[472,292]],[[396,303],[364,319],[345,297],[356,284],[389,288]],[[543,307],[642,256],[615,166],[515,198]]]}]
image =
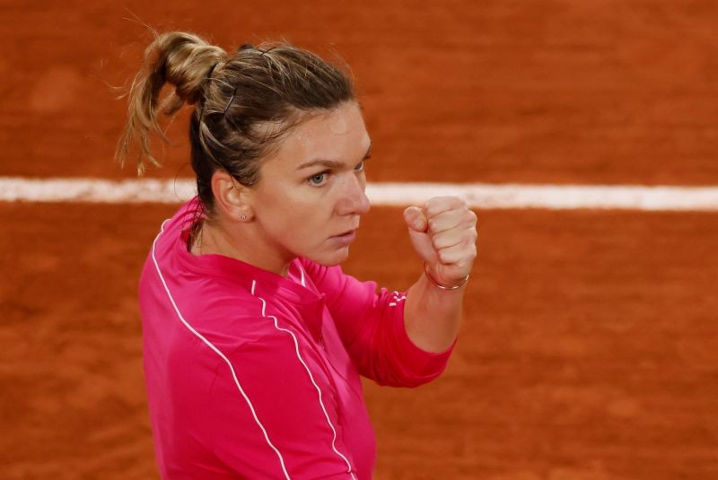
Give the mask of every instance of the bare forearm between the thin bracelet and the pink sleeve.
[{"label": "bare forearm between the thin bracelet and the pink sleeve", "polygon": [[407,292],[404,327],[407,336],[426,352],[443,352],[459,334],[461,302],[466,284],[442,290],[422,274]]}]

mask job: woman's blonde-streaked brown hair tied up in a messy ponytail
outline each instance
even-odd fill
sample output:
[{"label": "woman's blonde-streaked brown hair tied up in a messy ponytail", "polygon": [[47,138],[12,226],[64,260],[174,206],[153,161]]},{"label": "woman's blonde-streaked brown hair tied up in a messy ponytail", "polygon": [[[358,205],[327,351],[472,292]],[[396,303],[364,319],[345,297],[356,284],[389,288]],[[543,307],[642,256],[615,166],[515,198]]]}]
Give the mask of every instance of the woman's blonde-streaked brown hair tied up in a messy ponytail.
[{"label": "woman's blonde-streaked brown hair tied up in a messy ponytail", "polygon": [[[160,100],[166,83],[174,92]],[[147,163],[159,166],[150,138],[156,134],[167,141],[160,112],[172,115],[185,103],[194,105],[190,159],[200,205],[211,211],[216,170],[226,170],[242,185],[254,185],[259,161],[302,118],[354,98],[348,75],[288,43],[244,44],[230,56],[193,33],[155,34],[130,88],[116,158],[124,163],[137,144],[138,174]]]}]

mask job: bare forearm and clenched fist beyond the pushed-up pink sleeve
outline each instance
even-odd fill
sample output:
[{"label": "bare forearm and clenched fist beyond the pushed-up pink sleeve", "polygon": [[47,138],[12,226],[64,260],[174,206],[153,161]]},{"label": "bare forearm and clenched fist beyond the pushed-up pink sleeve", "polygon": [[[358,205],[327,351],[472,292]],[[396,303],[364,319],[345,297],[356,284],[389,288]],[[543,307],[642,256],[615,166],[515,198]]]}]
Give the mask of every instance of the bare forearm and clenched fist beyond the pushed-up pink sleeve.
[{"label": "bare forearm and clenched fist beyond the pushed-up pink sleeve", "polygon": [[425,264],[407,292],[407,335],[427,352],[442,352],[459,333],[466,279],[477,256],[477,215],[460,198],[443,196],[408,207],[404,219]]}]

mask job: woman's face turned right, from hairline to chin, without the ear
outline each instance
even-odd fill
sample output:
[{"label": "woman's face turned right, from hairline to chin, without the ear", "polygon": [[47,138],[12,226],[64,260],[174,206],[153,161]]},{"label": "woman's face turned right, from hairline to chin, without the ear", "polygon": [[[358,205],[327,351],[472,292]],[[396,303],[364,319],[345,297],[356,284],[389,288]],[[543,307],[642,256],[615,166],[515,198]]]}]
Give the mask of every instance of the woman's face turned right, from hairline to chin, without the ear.
[{"label": "woman's face turned right, from hairline to chin, without the ear", "polygon": [[295,127],[261,166],[252,207],[267,255],[321,265],[346,259],[369,211],[363,162],[371,141],[355,102]]}]

